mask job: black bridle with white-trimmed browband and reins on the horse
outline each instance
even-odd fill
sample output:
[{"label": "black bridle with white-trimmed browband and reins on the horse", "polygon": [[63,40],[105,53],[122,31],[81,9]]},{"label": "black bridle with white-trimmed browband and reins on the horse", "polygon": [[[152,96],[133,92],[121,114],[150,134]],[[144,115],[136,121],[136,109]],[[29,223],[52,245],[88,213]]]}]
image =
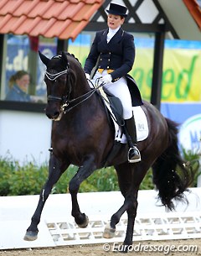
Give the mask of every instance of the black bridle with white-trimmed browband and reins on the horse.
[{"label": "black bridle with white-trimmed browband and reins on the horse", "polygon": [[[63,76],[64,74],[66,74],[66,86],[67,86],[68,80],[69,80],[68,78],[70,76],[70,74],[69,74],[69,63],[67,65],[66,70],[60,71],[60,72],[55,73],[55,74],[51,74],[48,71],[45,71],[44,76],[46,76],[49,79],[49,81],[55,81],[59,76]],[[62,111],[65,114],[66,112],[70,112],[71,109],[73,109],[74,107],[80,105],[82,102],[85,102],[87,99],[89,99],[95,93],[95,91],[97,91],[101,86],[103,86],[103,84],[101,84],[99,86],[96,86],[96,87],[94,86],[94,88],[91,91],[88,91],[85,94],[81,95],[80,97],[76,97],[76,98],[70,100],[70,93],[72,91],[72,85],[70,83],[70,85],[69,85],[70,89],[67,92],[67,95],[64,95],[62,97],[49,95],[48,96],[48,101],[61,102],[61,105],[62,105],[61,108],[62,108]],[[76,101],[79,101],[79,100],[80,100],[80,102],[77,102],[72,107],[69,107],[70,104],[72,104]]]}]

